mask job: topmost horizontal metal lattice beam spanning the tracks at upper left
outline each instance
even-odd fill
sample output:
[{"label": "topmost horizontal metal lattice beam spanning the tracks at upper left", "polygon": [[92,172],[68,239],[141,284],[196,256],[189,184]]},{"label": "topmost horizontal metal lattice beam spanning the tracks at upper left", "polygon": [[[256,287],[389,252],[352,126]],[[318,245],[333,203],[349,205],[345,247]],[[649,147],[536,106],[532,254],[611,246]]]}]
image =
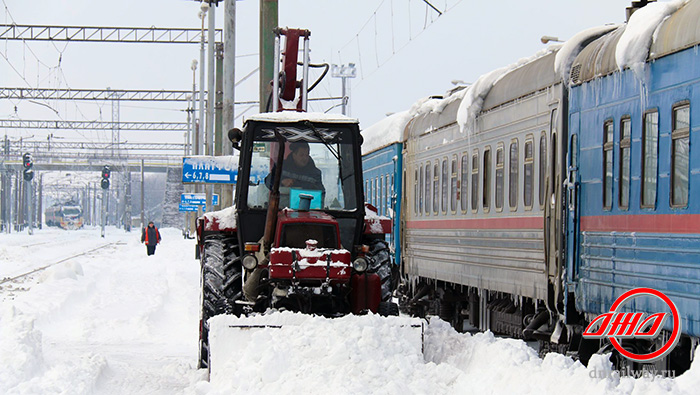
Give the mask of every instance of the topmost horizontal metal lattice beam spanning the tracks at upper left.
[{"label": "topmost horizontal metal lattice beam spanning the tracks at upper left", "polygon": [[[42,26],[0,24],[2,40],[198,44],[200,29],[159,27],[105,26]],[[215,39],[221,42],[223,33],[216,29]]]}]

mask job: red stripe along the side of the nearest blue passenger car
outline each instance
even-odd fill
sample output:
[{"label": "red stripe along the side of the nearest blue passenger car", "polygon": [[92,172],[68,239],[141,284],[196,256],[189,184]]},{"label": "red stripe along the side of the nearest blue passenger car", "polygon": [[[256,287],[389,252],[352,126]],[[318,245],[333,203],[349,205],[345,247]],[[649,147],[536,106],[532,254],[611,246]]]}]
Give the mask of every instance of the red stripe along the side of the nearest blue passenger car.
[{"label": "red stripe along the side of the nearest blue passenger car", "polygon": [[581,230],[593,232],[700,233],[698,214],[598,215],[581,217]]}]

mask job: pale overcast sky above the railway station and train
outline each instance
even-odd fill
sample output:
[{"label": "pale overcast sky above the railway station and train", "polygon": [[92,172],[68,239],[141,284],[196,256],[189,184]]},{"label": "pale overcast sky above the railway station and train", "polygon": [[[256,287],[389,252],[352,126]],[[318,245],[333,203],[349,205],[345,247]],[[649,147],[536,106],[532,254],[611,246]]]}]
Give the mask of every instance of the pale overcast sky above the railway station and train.
[{"label": "pale overcast sky above the railway station and train", "polygon": [[[77,26],[198,28],[192,0],[1,0],[3,23]],[[352,116],[369,126],[418,99],[442,94],[452,80],[481,74],[529,57],[543,35],[562,39],[607,23],[621,23],[630,0],[434,0],[442,16],[422,0],[280,0],[280,26],[309,29],[314,63],[355,63]],[[222,3],[223,4],[223,3]],[[258,0],[237,2],[236,79],[257,67]],[[221,7],[223,8],[223,6]],[[223,27],[223,9],[217,11]],[[85,89],[191,89],[198,45],[0,42],[3,87]],[[9,63],[8,63],[9,60]],[[242,83],[236,100],[257,100],[257,74]],[[199,77],[197,76],[197,83]],[[312,97],[340,96],[338,78],[326,77]],[[110,103],[0,102],[3,119],[111,120]],[[333,104],[313,104],[326,111]],[[15,112],[15,106],[17,108]],[[240,114],[248,106],[237,106]],[[122,121],[184,121],[184,104],[123,103]],[[255,109],[246,114],[252,113]],[[339,108],[331,110],[340,112]],[[59,118],[60,117],[60,118]],[[242,118],[236,123],[240,124]],[[0,134],[45,139],[43,131]],[[54,132],[70,139],[107,141],[96,132]],[[181,134],[122,133],[136,141],[181,142]]]}]

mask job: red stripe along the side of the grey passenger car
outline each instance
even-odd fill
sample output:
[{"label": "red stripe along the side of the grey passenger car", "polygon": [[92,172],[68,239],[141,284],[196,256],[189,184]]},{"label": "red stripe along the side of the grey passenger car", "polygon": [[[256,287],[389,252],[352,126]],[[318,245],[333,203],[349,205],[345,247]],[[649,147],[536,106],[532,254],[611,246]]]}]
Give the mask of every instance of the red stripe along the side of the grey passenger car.
[{"label": "red stripe along the side of the grey passenger car", "polygon": [[544,228],[542,217],[435,219],[408,221],[408,229],[534,229]]}]

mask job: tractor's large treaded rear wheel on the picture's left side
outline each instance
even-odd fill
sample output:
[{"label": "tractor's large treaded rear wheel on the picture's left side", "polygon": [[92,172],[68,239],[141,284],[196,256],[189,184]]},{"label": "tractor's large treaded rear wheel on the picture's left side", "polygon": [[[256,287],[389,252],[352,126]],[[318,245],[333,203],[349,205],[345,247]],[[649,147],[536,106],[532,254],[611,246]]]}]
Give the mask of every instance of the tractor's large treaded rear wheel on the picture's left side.
[{"label": "tractor's large treaded rear wheel on the picture's left side", "polygon": [[213,234],[204,238],[201,259],[201,312],[199,368],[209,366],[209,318],[240,314],[235,301],[241,298],[241,262],[235,234]]}]

